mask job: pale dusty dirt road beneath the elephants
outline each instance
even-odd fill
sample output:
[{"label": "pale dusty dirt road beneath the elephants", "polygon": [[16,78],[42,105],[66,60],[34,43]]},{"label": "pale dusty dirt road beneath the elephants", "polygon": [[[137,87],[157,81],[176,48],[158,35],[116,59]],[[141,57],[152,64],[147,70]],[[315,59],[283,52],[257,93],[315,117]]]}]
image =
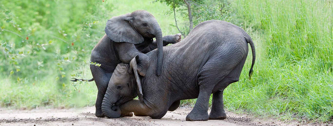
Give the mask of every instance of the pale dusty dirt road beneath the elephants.
[{"label": "pale dusty dirt road beneath the elephants", "polygon": [[148,116],[120,117],[116,119],[98,118],[95,106],[80,109],[6,110],[0,108],[0,126],[333,126],[332,123],[281,122],[277,119],[259,119],[249,115],[227,112],[227,119],[208,121],[185,121],[191,107],[180,107],[161,119]]}]

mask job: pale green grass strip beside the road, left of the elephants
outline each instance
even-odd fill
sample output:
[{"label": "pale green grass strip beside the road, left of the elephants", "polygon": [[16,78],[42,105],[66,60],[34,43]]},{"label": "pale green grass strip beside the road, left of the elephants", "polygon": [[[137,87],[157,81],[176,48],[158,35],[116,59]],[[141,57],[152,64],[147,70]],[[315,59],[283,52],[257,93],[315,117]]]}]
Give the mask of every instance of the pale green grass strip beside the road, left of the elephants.
[{"label": "pale green grass strip beside the road, left of the elephants", "polygon": [[31,109],[40,106],[49,108],[93,106],[97,95],[94,83],[79,85],[78,91],[72,85],[59,88],[47,81],[33,84],[16,84],[9,79],[1,80],[0,105],[11,109]]}]

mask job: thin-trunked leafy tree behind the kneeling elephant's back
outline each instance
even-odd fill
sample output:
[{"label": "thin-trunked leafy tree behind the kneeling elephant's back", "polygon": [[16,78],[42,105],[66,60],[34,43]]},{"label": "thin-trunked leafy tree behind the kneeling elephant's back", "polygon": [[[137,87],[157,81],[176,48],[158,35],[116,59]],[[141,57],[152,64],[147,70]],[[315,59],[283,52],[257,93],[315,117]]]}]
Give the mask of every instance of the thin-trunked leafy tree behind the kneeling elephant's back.
[{"label": "thin-trunked leafy tree behind the kneeling elephant's back", "polygon": [[[230,2],[227,0],[156,0],[166,3],[170,6],[170,11],[166,14],[171,14],[173,12],[175,26],[178,31],[186,36],[192,29],[193,25],[197,25],[206,20],[231,20],[231,9]],[[155,2],[156,2],[155,1]],[[184,20],[188,19],[188,24],[186,23],[182,30],[178,28],[176,13],[180,12],[183,15]]]}]

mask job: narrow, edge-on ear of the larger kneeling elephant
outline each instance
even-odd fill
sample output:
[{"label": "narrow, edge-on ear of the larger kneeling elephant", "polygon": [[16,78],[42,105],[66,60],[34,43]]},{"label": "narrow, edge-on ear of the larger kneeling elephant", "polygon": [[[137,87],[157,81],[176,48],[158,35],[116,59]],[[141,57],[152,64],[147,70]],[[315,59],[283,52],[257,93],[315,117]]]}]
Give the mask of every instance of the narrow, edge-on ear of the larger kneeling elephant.
[{"label": "narrow, edge-on ear of the larger kneeling elephant", "polygon": [[139,100],[140,100],[140,102],[143,102],[142,87],[141,87],[140,77],[139,77],[139,74],[138,74],[137,61],[139,61],[139,56],[138,55],[135,56],[131,60],[130,66],[131,66],[131,69],[133,70],[135,80],[137,82],[137,94],[138,94]]}]

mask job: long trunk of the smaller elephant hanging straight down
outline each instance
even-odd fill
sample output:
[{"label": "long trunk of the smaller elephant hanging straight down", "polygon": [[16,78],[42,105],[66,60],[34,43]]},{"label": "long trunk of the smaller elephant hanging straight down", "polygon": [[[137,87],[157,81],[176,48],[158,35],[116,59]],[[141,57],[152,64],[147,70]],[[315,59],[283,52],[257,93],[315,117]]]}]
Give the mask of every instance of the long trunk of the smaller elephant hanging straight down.
[{"label": "long trunk of the smaller elephant hanging straight down", "polygon": [[158,76],[161,75],[162,72],[162,62],[163,62],[163,36],[162,36],[162,30],[159,26],[159,24],[156,22],[154,25],[155,29],[155,38],[157,42],[157,71],[156,74]]}]

